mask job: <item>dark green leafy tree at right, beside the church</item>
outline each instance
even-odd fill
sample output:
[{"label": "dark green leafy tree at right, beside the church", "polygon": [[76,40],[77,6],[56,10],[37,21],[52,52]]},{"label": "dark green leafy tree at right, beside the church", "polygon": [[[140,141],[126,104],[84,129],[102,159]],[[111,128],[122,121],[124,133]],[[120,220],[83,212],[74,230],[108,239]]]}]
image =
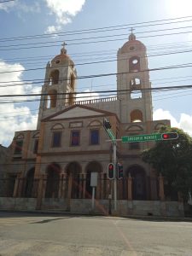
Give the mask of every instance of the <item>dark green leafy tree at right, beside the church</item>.
[{"label": "dark green leafy tree at right, beside the church", "polygon": [[162,126],[160,133],[177,132],[174,140],[159,141],[154,148],[143,151],[143,161],[166,178],[169,193],[182,193],[187,201],[192,191],[192,138],[181,129]]}]

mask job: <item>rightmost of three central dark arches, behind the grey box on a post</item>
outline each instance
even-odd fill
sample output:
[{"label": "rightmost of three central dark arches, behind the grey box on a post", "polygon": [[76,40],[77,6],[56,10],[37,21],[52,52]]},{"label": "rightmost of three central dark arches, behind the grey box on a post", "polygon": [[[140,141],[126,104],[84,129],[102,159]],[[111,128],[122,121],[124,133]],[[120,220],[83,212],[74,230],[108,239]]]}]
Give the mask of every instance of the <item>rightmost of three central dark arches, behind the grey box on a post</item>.
[{"label": "rightmost of three central dark arches, behind the grey box on a post", "polygon": [[[98,172],[98,175],[100,172],[102,172],[102,166],[99,162],[93,161],[88,164],[86,167],[86,192],[85,192],[85,197],[86,198],[91,198],[92,197],[92,187],[90,186],[90,177],[91,177],[91,172]],[[99,181],[99,177],[98,177]],[[96,190],[98,190],[99,183],[97,181],[97,187]],[[96,193],[98,197],[98,192]]]}]

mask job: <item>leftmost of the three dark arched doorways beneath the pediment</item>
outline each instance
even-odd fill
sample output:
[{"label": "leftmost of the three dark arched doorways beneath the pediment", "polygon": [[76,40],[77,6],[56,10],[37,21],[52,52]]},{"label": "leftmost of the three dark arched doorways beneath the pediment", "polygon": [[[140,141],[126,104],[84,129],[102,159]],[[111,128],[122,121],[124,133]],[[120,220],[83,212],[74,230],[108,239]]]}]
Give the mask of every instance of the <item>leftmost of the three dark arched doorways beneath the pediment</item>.
[{"label": "leftmost of the three dark arched doorways beneath the pediment", "polygon": [[45,197],[47,198],[57,198],[59,192],[59,182],[60,182],[61,167],[52,163],[47,167],[47,185]]}]

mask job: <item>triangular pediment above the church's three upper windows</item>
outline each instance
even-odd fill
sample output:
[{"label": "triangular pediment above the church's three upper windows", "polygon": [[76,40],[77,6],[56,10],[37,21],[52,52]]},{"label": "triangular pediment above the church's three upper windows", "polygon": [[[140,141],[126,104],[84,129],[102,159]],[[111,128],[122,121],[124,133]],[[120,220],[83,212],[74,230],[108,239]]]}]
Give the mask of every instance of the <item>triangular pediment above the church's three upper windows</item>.
[{"label": "triangular pediment above the church's three upper windows", "polygon": [[59,120],[59,119],[77,119],[77,118],[91,118],[96,116],[113,115],[114,113],[103,111],[87,106],[73,106],[55,113],[44,120]]}]

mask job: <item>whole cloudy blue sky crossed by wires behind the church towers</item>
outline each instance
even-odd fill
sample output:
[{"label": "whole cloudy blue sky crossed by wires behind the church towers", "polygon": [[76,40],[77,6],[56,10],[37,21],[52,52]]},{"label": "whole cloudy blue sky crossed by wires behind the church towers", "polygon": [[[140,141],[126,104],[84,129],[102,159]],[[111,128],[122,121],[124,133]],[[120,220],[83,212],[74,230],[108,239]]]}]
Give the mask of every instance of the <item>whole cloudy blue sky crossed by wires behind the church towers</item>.
[{"label": "whole cloudy blue sky crossed by wires behind the church towers", "polygon": [[[26,84],[24,81],[44,79],[44,67],[60,53],[62,41],[67,42],[67,54],[77,64],[79,76],[115,73],[117,50],[125,44],[131,27],[148,49],[150,69],[192,62],[192,16],[180,19],[191,15],[191,0],[1,2],[3,0],[0,0],[0,95],[39,92],[43,83]],[[103,27],[111,28],[108,32],[82,32]],[[61,35],[61,32],[73,33]],[[21,38],[26,36],[30,38]],[[91,61],[106,62],[78,65]],[[40,69],[27,71],[32,68]],[[20,72],[13,73],[15,70]],[[192,67],[182,67],[154,71],[150,73],[150,80],[153,87],[192,84],[191,70]],[[79,91],[91,89],[115,90],[116,77],[79,79]],[[191,98],[192,90],[154,93],[154,119],[171,119],[172,126],[192,134]],[[9,103],[3,103],[5,101]],[[39,104],[10,101],[13,98],[1,98],[0,102],[0,143],[5,146],[11,143],[15,131],[36,129]]]}]

